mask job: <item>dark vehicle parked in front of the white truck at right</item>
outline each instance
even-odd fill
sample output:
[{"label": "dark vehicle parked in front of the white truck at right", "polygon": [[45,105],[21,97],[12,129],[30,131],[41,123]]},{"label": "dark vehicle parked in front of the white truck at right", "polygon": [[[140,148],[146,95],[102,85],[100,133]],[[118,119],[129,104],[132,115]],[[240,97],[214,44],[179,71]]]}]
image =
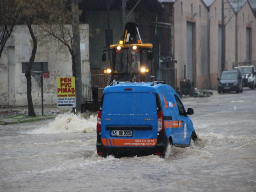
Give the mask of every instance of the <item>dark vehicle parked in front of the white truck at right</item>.
[{"label": "dark vehicle parked in front of the white truck at right", "polygon": [[223,71],[218,81],[218,93],[231,91],[235,91],[236,93],[243,92],[243,81],[240,70]]}]

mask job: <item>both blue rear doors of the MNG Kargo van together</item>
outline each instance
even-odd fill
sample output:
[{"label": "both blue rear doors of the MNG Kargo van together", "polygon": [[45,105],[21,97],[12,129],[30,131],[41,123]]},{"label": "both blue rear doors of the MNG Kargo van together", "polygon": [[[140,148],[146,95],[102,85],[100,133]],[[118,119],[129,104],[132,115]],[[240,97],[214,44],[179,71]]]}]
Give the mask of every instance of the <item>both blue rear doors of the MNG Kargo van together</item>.
[{"label": "both blue rear doors of the MNG Kargo van together", "polygon": [[122,85],[106,90],[101,138],[102,144],[108,147],[155,146],[157,110],[154,89]]}]

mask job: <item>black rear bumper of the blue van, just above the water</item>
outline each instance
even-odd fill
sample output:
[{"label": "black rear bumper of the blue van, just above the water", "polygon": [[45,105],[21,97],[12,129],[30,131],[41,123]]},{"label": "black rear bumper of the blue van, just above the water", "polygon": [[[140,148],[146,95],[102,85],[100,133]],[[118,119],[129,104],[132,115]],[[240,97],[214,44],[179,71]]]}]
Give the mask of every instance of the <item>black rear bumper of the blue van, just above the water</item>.
[{"label": "black rear bumper of the blue van, just above the water", "polygon": [[146,156],[151,154],[158,154],[160,156],[164,156],[166,152],[166,148],[168,146],[168,138],[166,136],[165,131],[159,133],[157,137],[157,143],[154,147],[115,147],[115,146],[103,146],[101,142],[101,135],[97,132],[97,153],[101,156],[113,155],[116,157],[122,156]]}]

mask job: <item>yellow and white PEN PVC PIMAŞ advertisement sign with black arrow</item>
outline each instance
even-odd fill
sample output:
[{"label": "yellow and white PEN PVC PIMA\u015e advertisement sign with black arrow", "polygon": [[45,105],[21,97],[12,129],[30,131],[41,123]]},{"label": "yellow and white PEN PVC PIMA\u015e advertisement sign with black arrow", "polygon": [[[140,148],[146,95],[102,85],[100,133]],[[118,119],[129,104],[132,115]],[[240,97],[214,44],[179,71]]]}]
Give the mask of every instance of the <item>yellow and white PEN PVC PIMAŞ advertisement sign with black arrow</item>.
[{"label": "yellow and white PEN PVC PIMA\u015e advertisement sign with black arrow", "polygon": [[76,107],[75,77],[57,77],[58,108]]}]

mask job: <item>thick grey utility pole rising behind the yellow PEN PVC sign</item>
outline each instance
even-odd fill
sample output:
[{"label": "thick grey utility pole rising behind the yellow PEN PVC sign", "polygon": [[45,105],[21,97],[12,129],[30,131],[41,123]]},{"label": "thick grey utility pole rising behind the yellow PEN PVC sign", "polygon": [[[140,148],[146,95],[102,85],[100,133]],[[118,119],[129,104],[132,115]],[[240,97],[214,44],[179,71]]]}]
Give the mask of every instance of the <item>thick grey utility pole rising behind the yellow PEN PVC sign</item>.
[{"label": "thick grey utility pole rising behind the yellow PEN PVC sign", "polygon": [[72,49],[76,56],[76,109],[80,109],[81,103],[83,103],[82,94],[82,72],[81,72],[81,53],[80,53],[80,28],[79,28],[79,10],[78,0],[72,0],[72,32],[73,43]]}]

